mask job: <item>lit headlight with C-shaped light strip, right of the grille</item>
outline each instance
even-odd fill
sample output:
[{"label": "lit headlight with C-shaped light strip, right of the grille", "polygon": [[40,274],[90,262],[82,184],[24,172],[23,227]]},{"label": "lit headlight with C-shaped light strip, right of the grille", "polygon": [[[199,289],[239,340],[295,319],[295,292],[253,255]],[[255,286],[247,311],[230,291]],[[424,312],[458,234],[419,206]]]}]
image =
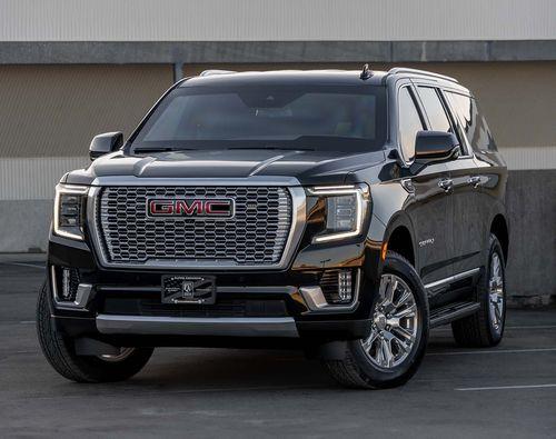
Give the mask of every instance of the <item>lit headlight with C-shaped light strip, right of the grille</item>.
[{"label": "lit headlight with C-shaped light strip, right of the grille", "polygon": [[327,242],[361,233],[369,207],[367,184],[316,187],[310,193],[326,201],[326,230],[314,242]]}]

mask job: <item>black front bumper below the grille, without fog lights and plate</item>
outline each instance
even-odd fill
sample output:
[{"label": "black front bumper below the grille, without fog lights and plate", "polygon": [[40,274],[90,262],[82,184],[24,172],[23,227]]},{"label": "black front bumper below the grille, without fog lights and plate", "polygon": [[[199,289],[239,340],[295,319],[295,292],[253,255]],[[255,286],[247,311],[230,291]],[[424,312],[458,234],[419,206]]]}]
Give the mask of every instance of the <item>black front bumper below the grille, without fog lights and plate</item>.
[{"label": "black front bumper below the grille, without fog lights and plate", "polygon": [[[237,346],[247,340],[330,341],[365,337],[370,329],[371,291],[380,270],[380,243],[301,245],[284,270],[107,269],[88,241],[50,236],[51,267],[79,270],[90,286],[80,307],[57,303],[57,329],[73,338],[116,346]],[[310,291],[327,270],[353,270],[357,291],[351,303],[320,308]],[[214,306],[161,305],[161,277],[211,275],[217,279]],[[85,303],[85,305],[83,305]],[[277,342],[277,345],[279,345]]]}]

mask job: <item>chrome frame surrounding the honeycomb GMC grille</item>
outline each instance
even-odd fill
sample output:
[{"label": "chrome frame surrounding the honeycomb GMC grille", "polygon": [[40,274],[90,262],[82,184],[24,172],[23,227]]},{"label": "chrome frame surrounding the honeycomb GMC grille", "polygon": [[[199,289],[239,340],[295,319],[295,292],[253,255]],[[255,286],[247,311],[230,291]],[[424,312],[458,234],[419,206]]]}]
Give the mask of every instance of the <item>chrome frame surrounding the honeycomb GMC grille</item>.
[{"label": "chrome frame surrounding the honeycomb GMC grille", "polygon": [[[102,187],[115,186],[265,186],[284,187],[289,190],[291,197],[291,226],[288,239],[284,247],[281,259],[274,265],[237,265],[230,261],[210,260],[147,260],[145,263],[117,263],[110,262],[106,255],[101,240],[101,231],[97,221],[99,192]],[[296,178],[230,178],[230,179],[188,179],[188,178],[138,178],[138,177],[101,177],[97,178],[91,186],[87,199],[87,225],[91,235],[92,246],[103,268],[116,269],[195,269],[195,270],[284,270],[288,267],[297,245],[301,240],[306,222],[306,193]]]}]

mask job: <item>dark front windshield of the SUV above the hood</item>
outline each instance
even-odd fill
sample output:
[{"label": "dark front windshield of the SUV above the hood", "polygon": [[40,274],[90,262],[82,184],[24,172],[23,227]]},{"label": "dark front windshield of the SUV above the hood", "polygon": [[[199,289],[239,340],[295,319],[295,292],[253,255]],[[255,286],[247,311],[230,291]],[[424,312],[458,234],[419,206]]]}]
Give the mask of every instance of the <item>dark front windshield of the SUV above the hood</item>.
[{"label": "dark front windshield of the SUV above the hood", "polygon": [[386,139],[385,88],[182,87],[132,138],[141,150],[308,149],[373,151]]}]

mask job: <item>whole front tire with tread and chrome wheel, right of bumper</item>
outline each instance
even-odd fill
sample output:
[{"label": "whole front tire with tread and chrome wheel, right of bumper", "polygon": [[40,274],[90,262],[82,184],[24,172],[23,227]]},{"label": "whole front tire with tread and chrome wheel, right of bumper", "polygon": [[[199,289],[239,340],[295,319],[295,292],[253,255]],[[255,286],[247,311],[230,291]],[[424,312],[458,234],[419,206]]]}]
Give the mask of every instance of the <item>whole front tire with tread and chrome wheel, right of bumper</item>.
[{"label": "whole front tire with tread and chrome wheel, right of bumper", "polygon": [[[398,282],[390,302],[394,305],[384,306],[383,296],[387,296],[384,291],[388,291],[388,287],[385,286],[388,283],[394,285],[394,281]],[[394,309],[391,315],[386,315],[387,310],[393,309],[391,307],[395,307],[396,302],[401,303],[406,287],[410,290],[413,301]],[[411,303],[410,307],[409,303]],[[413,331],[414,341],[411,347],[407,349],[407,353],[404,353],[400,343],[390,336],[397,335],[400,339],[404,339],[404,337],[400,336],[398,329],[393,329],[387,325],[390,321],[389,318],[388,320],[383,318],[386,316],[395,317],[396,313],[399,316],[399,313],[406,312],[410,308],[415,310],[416,317],[414,318],[408,313],[408,317],[398,320],[398,322],[403,322],[399,326],[409,327],[409,322],[413,322],[411,329],[408,329],[408,331]],[[381,312],[385,312],[385,315]],[[373,328],[369,338],[347,341],[344,359],[327,360],[325,365],[336,381],[349,388],[385,389],[401,386],[415,375],[425,355],[428,341],[429,315],[427,296],[419,276],[407,259],[394,251],[388,251],[384,263],[379,291],[374,295],[373,299],[371,319]],[[384,327],[385,325],[386,327]],[[389,332],[389,330],[393,332]],[[379,335],[383,331],[384,337],[378,336],[378,339],[371,341],[377,331]],[[379,353],[381,352],[379,347],[384,343],[383,340],[388,340],[387,345],[390,346],[390,353],[399,350],[400,357],[398,360],[393,360],[389,365],[381,363],[381,360],[386,361],[388,357]]]}]

